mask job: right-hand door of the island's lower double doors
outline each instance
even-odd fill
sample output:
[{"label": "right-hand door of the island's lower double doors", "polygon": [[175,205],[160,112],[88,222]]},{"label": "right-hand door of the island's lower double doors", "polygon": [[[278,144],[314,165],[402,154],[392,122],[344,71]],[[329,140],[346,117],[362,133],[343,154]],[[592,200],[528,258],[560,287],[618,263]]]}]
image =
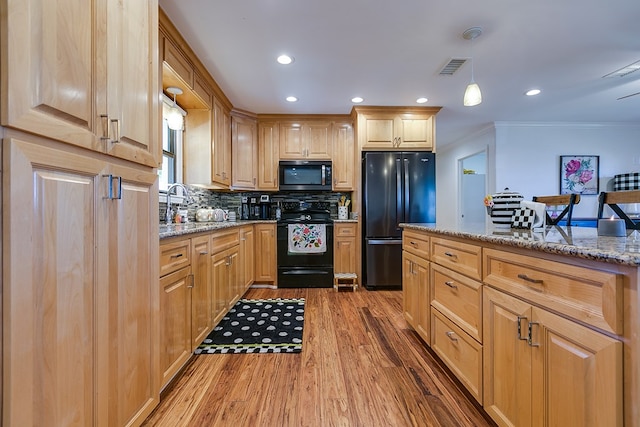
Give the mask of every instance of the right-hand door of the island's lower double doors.
[{"label": "right-hand door of the island's lower double doors", "polygon": [[533,309],[533,426],[622,426],[622,343]]}]

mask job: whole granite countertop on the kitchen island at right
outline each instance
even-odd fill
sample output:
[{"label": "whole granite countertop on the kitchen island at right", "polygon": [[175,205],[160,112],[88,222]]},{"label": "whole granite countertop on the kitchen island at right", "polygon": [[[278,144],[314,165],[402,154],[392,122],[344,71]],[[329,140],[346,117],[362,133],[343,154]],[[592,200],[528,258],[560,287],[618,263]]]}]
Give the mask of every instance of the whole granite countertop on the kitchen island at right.
[{"label": "whole granite countertop on the kitchen island at right", "polygon": [[547,226],[542,231],[498,229],[493,224],[466,228],[439,227],[438,224],[400,224],[405,229],[428,231],[443,236],[533,249],[614,264],[640,266],[640,232],[630,230],[627,237],[598,236],[592,227]]}]

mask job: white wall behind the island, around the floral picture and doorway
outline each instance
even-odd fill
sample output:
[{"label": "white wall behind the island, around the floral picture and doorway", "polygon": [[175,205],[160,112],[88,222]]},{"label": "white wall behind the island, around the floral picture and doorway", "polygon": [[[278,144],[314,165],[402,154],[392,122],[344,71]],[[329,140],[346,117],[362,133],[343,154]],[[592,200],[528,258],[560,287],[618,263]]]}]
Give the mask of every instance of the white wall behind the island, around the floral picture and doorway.
[{"label": "white wall behind the island, around the floral picture and doorway", "polygon": [[[600,156],[600,191],[611,190],[620,173],[640,172],[640,123],[496,122],[491,128],[439,149],[436,155],[437,221],[454,226],[458,218],[458,161],[487,149],[487,189],[508,187],[526,200],[559,194],[561,155]],[[608,187],[609,186],[609,187]],[[574,218],[595,218],[598,196],[583,196]]]}]

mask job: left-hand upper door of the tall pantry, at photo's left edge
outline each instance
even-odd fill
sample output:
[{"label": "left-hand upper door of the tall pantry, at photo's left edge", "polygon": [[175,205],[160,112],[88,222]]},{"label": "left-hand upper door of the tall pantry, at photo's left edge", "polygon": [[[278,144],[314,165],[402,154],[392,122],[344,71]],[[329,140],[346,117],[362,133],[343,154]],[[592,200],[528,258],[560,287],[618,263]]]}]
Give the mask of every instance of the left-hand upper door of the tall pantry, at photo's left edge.
[{"label": "left-hand upper door of the tall pantry, at photo's left edge", "polygon": [[94,46],[105,23],[98,22],[97,3],[7,1],[3,125],[101,149],[96,135],[106,132],[99,117],[106,104],[94,77],[105,64]]}]

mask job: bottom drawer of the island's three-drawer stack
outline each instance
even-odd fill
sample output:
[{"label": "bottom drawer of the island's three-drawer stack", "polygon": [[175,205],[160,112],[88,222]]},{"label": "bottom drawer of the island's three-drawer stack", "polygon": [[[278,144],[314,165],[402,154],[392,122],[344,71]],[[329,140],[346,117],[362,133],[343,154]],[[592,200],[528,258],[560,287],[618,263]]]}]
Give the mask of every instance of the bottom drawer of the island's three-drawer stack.
[{"label": "bottom drawer of the island's three-drawer stack", "polygon": [[438,310],[431,310],[431,348],[482,403],[482,345]]}]

